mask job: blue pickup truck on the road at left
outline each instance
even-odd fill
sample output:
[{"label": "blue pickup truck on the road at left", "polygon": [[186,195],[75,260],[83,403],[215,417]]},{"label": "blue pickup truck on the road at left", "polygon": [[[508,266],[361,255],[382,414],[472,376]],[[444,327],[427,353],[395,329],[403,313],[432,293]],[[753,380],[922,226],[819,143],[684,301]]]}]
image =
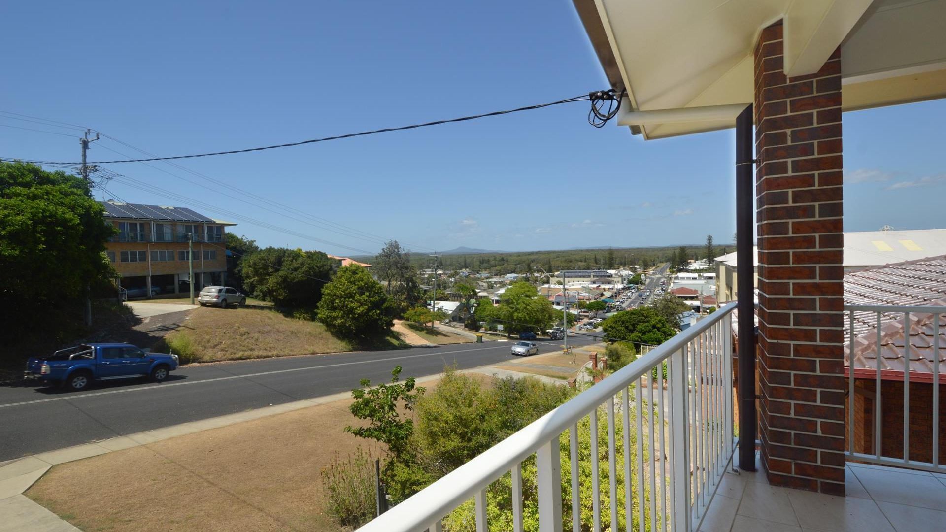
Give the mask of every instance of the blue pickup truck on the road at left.
[{"label": "blue pickup truck on the road at left", "polygon": [[61,383],[70,390],[88,388],[93,381],[149,377],[164,381],[178,366],[178,356],[146,353],[131,344],[80,344],[48,357],[26,362],[27,380]]}]

